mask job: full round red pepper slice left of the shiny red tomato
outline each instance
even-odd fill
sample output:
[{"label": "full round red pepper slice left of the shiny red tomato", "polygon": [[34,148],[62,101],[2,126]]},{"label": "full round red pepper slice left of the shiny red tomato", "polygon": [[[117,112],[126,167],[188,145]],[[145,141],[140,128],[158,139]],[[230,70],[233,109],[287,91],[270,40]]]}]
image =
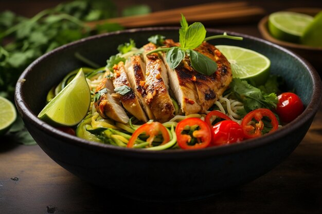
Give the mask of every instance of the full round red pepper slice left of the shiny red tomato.
[{"label": "full round red pepper slice left of the shiny red tomato", "polygon": [[[183,134],[182,131],[186,126],[199,126],[199,130],[194,130],[192,136],[198,141],[194,145],[189,145],[191,136]],[[201,149],[205,148],[210,144],[211,132],[210,127],[199,118],[187,118],[180,121],[175,127],[175,134],[178,145],[183,149]]]}]

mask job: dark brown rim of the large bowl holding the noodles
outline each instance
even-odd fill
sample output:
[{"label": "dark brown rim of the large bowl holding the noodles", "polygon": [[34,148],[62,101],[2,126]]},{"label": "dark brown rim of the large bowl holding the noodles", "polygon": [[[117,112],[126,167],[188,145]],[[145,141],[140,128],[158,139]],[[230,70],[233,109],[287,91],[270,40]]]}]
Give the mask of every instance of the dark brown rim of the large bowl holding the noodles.
[{"label": "dark brown rim of the large bowl holding the noodles", "polygon": [[307,61],[303,60],[300,56],[298,56],[294,52],[288,49],[285,49],[283,47],[280,47],[269,41],[262,40],[261,38],[242,34],[242,33],[237,33],[237,32],[230,32],[230,31],[210,29],[210,28],[207,29],[207,33],[222,34],[224,32],[227,32],[230,35],[242,36],[244,38],[247,38],[248,40],[255,40],[260,43],[265,43],[268,46],[277,48],[291,55],[292,57],[295,57],[308,70],[311,80],[313,82],[312,99],[309,102],[308,106],[305,108],[305,110],[302,112],[302,114],[299,115],[291,123],[284,125],[282,129],[279,129],[273,133],[265,134],[263,137],[244,140],[240,143],[223,145],[218,147],[208,147],[208,148],[199,149],[199,150],[182,150],[182,149],[171,150],[170,149],[170,150],[151,151],[151,150],[145,150],[145,149],[133,149],[133,148],[129,149],[129,148],[117,147],[117,146],[107,145],[107,144],[102,144],[97,142],[91,142],[85,139],[78,138],[74,135],[67,134],[45,123],[44,121],[38,119],[37,115],[35,115],[31,111],[27,103],[24,101],[24,93],[23,93],[24,82],[21,80],[26,79],[26,76],[28,75],[29,72],[32,71],[32,68],[34,66],[37,66],[38,63],[40,63],[42,60],[45,60],[47,57],[50,57],[52,54],[63,51],[64,49],[68,49],[73,46],[78,46],[81,43],[84,43],[87,41],[96,40],[98,38],[106,37],[110,35],[129,34],[133,32],[143,32],[143,31],[144,32],[174,31],[178,29],[179,29],[178,27],[149,27],[149,28],[121,30],[121,31],[115,31],[115,32],[86,37],[79,41],[75,41],[75,42],[63,45],[61,47],[58,47],[55,50],[52,50],[40,56],[37,60],[33,61],[19,77],[19,80],[17,81],[16,87],[15,87],[15,104],[17,106],[17,109],[19,110],[23,120],[27,120],[37,129],[40,129],[41,131],[45,132],[46,134],[49,134],[51,137],[56,138],[57,140],[63,140],[67,144],[84,147],[98,152],[111,153],[113,155],[122,155],[123,157],[132,157],[132,158],[134,157],[139,159],[152,159],[152,160],[175,160],[175,159],[187,159],[192,157],[194,159],[204,159],[207,157],[213,157],[214,155],[221,156],[221,155],[240,152],[247,149],[253,149],[253,148],[265,146],[266,144],[274,142],[275,140],[291,133],[293,130],[300,128],[310,119],[313,120],[313,117],[317,112],[322,99],[322,95],[319,94],[319,92],[322,90],[322,83],[320,81],[319,75],[317,74],[313,66],[311,66]]}]

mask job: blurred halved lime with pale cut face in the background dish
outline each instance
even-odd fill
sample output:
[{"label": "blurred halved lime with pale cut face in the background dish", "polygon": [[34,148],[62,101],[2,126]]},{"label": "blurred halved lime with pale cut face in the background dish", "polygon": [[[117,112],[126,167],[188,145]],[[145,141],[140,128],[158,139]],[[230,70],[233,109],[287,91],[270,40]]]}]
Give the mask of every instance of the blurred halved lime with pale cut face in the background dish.
[{"label": "blurred halved lime with pale cut face in the background dish", "polygon": [[307,14],[280,11],[269,16],[269,30],[275,38],[299,43],[305,28],[313,21]]}]

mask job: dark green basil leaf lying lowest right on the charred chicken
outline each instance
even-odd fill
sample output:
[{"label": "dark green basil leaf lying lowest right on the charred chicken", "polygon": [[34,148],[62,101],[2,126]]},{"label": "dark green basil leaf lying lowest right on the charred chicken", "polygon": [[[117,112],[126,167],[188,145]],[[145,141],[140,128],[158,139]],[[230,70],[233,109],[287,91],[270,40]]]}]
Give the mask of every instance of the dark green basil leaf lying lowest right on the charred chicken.
[{"label": "dark green basil leaf lying lowest right on the charred chicken", "polygon": [[209,76],[217,70],[217,63],[209,57],[194,50],[189,50],[189,54],[192,68],[199,73]]}]

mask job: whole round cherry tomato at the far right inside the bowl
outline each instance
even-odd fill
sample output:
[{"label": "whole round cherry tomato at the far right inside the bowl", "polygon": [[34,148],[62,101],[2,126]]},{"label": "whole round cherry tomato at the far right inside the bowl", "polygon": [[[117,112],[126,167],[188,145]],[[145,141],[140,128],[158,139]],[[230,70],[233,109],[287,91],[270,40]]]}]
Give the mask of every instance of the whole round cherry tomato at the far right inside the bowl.
[{"label": "whole round cherry tomato at the far right inside the bowl", "polygon": [[295,93],[285,92],[278,95],[276,112],[280,120],[290,123],[303,112],[303,103]]}]

